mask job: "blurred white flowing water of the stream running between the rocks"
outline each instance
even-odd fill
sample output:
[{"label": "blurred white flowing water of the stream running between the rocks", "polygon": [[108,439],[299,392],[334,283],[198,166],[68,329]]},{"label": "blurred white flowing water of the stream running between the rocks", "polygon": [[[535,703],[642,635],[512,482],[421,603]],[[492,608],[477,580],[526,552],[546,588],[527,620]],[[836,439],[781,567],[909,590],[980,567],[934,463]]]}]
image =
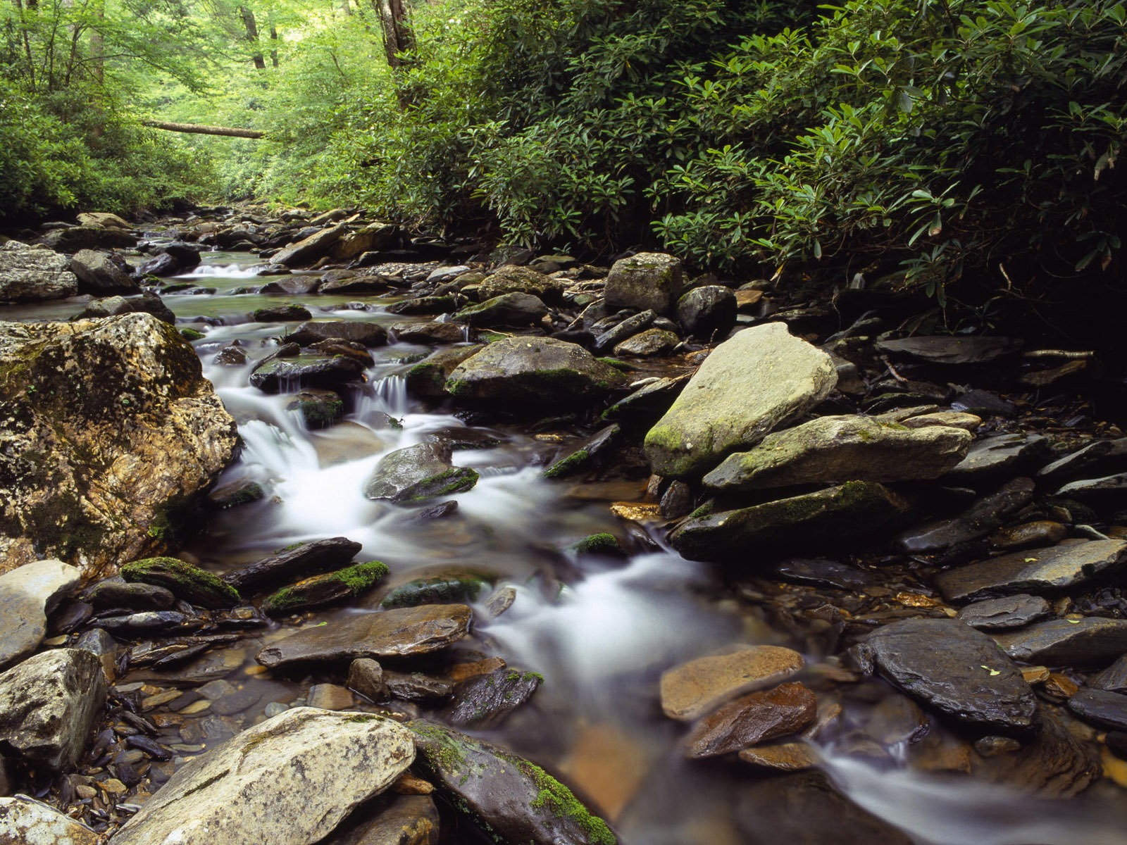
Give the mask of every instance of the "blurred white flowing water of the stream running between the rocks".
[{"label": "blurred white flowing water of the stream running between the rocks", "polygon": [[[574,439],[565,432],[489,429],[500,445],[456,451],[454,464],[473,466],[481,480],[454,497],[459,508],[450,517],[419,522],[410,509],[366,499],[364,481],[381,456],[428,433],[464,425],[451,410],[428,408],[407,395],[402,375],[426,347],[391,344],[372,350],[375,364],[366,373],[365,389],[349,397],[345,421],[318,432],[307,429],[299,413],[286,409],[286,395],[266,395],[248,385],[252,365],[220,366],[213,357],[232,340],[239,340],[252,361],[275,348],[285,326],[249,321],[249,312],[264,304],[303,302],[314,318],[385,326],[426,318],[388,314],[390,300],[376,296],[357,302],[356,296],[233,295],[238,287],[268,281],[255,276],[254,264],[252,256],[207,254],[201,268],[177,281],[214,293],[165,296],[181,322],[205,332],[195,343],[205,375],[239,422],[245,448],[222,482],[252,479],[266,490],[263,500],[215,516],[187,552],[222,571],[291,543],[343,535],[363,544],[358,560],[379,559],[389,566],[389,586],[465,571],[486,576],[497,588],[512,587],[516,599],[500,616],[491,619],[476,605],[473,637],[458,648],[467,660],[477,652],[499,656],[513,668],[542,674],[544,683],[530,704],[482,736],[561,771],[613,821],[624,843],[777,840],[756,829],[760,812],[770,808],[755,804],[755,788],[773,775],[760,779],[743,765],[684,759],[678,748],[683,727],[662,715],[658,678],[681,661],[734,643],[788,644],[806,650],[811,662],[824,655],[810,653],[808,643],[804,648],[786,632],[772,630],[762,614],[748,613],[726,593],[716,571],[683,560],[665,549],[660,537],[650,537],[647,550],[628,561],[577,560],[561,551],[595,532],[625,537],[607,505],[644,495],[641,481],[582,484],[542,479],[544,461],[566,453]],[[8,319],[65,319],[77,310],[74,303],[54,303],[11,310]],[[220,318],[223,324],[208,324],[207,318]],[[401,420],[402,427],[387,427],[384,415]],[[635,539],[635,549],[642,545]],[[381,595],[314,614],[314,623],[376,606]],[[339,682],[329,676],[254,674],[254,653],[261,642],[291,631],[266,632],[228,656],[231,677],[245,676],[243,683],[258,684],[264,693],[240,719],[260,718],[269,702],[300,701],[310,683]],[[871,705],[846,702],[844,721],[863,722]],[[216,739],[224,730],[231,724],[212,721],[199,736]],[[879,762],[841,754],[832,741],[822,750],[824,771],[844,794],[917,843],[1127,842],[1121,793],[1108,782],[1097,784],[1083,801],[1050,801],[965,775],[912,768],[904,762],[904,749],[895,745]],[[811,829],[826,829],[814,824],[818,819],[809,821]],[[836,829],[833,839],[861,842],[848,825]]]}]

